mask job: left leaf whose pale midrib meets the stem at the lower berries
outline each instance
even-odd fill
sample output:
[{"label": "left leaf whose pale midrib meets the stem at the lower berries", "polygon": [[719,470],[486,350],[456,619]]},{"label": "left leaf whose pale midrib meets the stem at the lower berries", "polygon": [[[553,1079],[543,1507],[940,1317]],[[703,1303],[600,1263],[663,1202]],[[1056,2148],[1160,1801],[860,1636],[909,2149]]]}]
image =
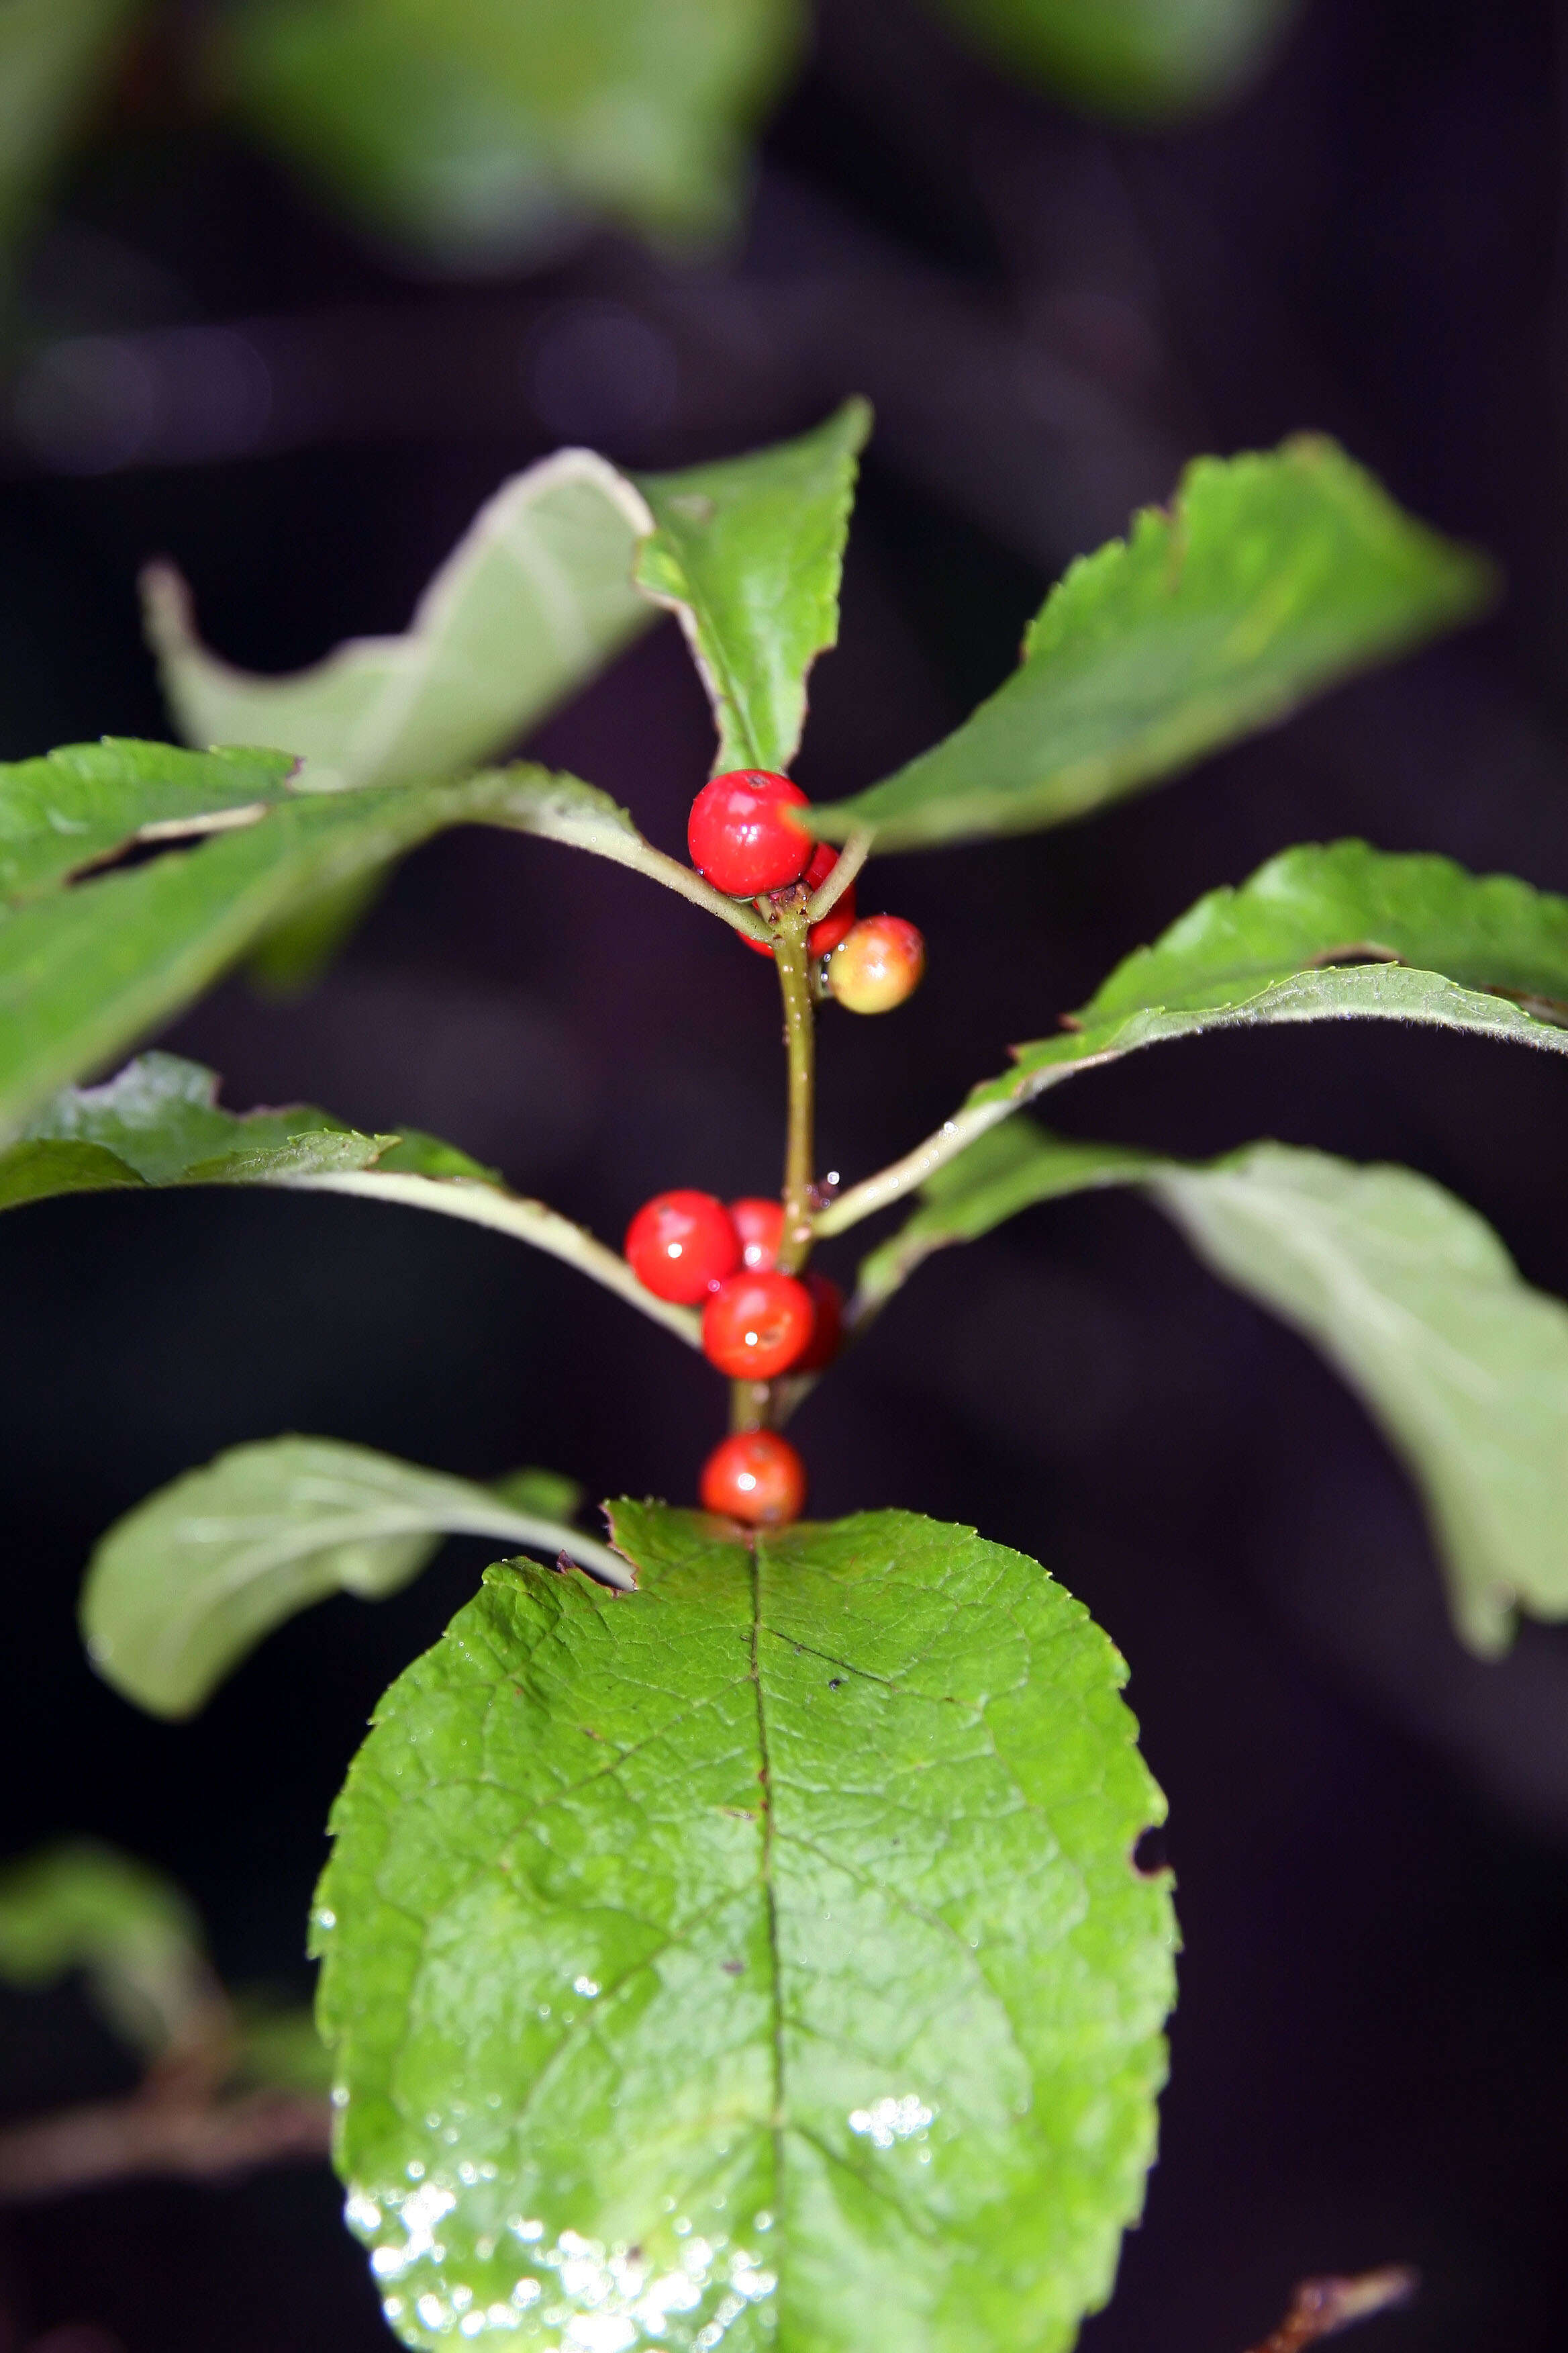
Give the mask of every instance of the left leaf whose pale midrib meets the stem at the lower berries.
[{"label": "left leaf whose pale midrib meets the stem at the lower berries", "polygon": [[223,1111],[216,1073],[179,1054],[141,1054],[101,1087],[63,1087],[0,1151],[0,1209],[59,1193],[183,1184],[353,1193],[461,1217],[576,1266],[691,1348],[701,1346],[691,1308],[656,1299],[618,1252],[543,1200],[508,1191],[454,1144],[416,1127],[367,1136],[310,1104]]}]

